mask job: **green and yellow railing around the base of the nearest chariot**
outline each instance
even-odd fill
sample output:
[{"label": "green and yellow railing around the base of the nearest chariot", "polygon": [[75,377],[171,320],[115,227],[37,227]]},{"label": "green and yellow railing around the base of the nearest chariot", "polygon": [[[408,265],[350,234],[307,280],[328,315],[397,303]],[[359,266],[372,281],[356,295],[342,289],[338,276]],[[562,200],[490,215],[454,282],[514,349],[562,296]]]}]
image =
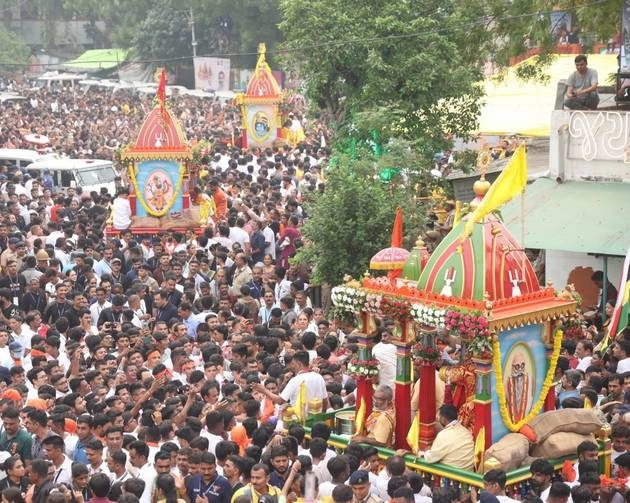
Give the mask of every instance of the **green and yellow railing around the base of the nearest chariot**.
[{"label": "green and yellow railing around the base of the nearest chariot", "polygon": [[[314,422],[325,422],[334,431],[335,414],[340,411],[354,411],[354,407],[340,409],[331,413],[309,416],[305,425],[306,437],[310,439],[310,427]],[[337,435],[336,433],[332,433],[328,440],[328,445],[339,451],[344,450],[349,443],[350,442],[347,436]],[[604,473],[606,456],[609,456],[610,452],[607,451],[606,443],[604,441],[598,440],[598,445],[600,473]],[[379,458],[383,460],[396,455],[392,449],[376,447],[376,450],[378,451]],[[566,456],[563,458],[549,460],[549,462],[554,466],[558,480],[560,480],[559,472],[562,469],[564,462],[567,460],[575,462],[576,459],[577,458],[575,456]],[[481,473],[461,470],[441,463],[427,463],[423,459],[417,458],[411,454],[404,456],[404,460],[407,468],[423,475],[425,484],[431,489],[441,486],[450,486],[454,487],[457,492],[462,491],[466,493],[471,487],[483,488],[483,474]],[[506,494],[516,499],[522,499],[529,491],[530,478],[531,473],[529,471],[529,466],[509,471],[507,473]]]}]

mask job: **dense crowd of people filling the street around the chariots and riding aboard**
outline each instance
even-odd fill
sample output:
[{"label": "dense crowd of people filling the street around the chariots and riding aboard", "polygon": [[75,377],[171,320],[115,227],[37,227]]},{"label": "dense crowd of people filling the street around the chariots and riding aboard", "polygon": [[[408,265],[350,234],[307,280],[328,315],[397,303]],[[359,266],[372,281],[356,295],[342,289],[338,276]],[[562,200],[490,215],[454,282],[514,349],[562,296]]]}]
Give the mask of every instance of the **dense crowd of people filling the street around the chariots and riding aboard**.
[{"label": "dense crowd of people filling the street around the chariots and riding aboard", "polygon": [[[24,92],[28,104],[0,106],[2,147],[33,132],[60,154],[116,159],[151,106],[125,93]],[[290,120],[306,133],[297,148],[245,152],[227,144],[237,108],[191,97],[170,107],[189,139],[215,140],[202,182],[216,211],[201,235],[126,229],[108,238],[109,194],[0,168],[3,503],[511,503],[502,470],[485,474],[477,496],[434,487],[407,469],[403,453],[380,461],[377,448],[392,447],[395,415],[406,413],[395,410],[387,321],[372,348],[380,372],[366,430],[343,453],[328,447],[324,422],[306,439],[294,421],[302,390],[306,408],[335,411],[354,404],[356,389],[346,366],[357,351],[352,325],[313,306],[308,269],[289,262],[308,218],[302,201],[325,190],[326,131],[296,113]],[[598,357],[593,337],[597,330],[585,330],[564,343],[558,406],[583,406],[585,397],[612,404],[603,413],[617,423],[623,478],[630,342]],[[456,340],[443,342],[439,366],[447,367],[464,355]],[[437,381],[441,431],[420,455],[472,469],[472,433],[444,392],[451,383]],[[415,410],[418,395],[416,383]],[[534,496],[518,497],[597,500],[599,479],[586,467],[571,489],[540,460],[531,469]],[[620,490],[609,496],[624,498]]]}]

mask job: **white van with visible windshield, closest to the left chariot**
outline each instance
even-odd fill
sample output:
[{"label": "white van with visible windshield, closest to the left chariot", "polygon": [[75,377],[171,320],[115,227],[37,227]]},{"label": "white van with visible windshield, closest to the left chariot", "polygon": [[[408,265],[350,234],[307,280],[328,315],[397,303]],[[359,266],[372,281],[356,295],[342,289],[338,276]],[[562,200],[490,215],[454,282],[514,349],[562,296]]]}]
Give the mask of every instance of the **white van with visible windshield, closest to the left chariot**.
[{"label": "white van with visible windshield, closest to the left chariot", "polygon": [[102,159],[44,159],[29,164],[26,171],[36,171],[43,175],[49,171],[53,176],[55,187],[81,187],[84,192],[100,192],[106,188],[114,195],[114,178],[117,173],[111,161]]}]

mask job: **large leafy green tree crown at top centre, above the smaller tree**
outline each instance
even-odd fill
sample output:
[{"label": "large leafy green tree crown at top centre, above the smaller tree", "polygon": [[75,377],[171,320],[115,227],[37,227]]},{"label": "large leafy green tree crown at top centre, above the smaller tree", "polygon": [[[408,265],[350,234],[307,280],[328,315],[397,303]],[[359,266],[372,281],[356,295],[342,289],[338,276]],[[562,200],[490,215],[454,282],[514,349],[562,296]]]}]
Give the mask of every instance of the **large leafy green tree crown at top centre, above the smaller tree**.
[{"label": "large leafy green tree crown at top centre, above the smaller tree", "polygon": [[474,126],[467,114],[449,119],[471,106],[475,111],[474,100],[462,97],[479,95],[474,83],[481,73],[462,59],[443,2],[343,4],[280,2],[288,63],[299,65],[307,94],[322,110],[337,122],[353,110],[396,110],[408,123],[408,137],[439,131],[444,121]]}]

